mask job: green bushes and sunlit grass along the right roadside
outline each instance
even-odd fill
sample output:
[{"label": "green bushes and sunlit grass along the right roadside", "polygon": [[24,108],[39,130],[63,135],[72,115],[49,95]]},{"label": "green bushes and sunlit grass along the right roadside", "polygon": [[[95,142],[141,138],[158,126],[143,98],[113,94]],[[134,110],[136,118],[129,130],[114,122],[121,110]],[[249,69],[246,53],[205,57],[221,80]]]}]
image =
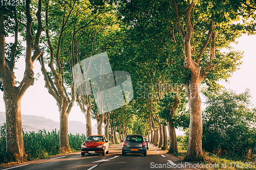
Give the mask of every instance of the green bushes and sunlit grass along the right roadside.
[{"label": "green bushes and sunlit grass along the right roadside", "polygon": [[[218,94],[204,95],[207,107],[203,110],[203,153],[193,163],[216,165],[208,169],[233,169],[234,165],[235,169],[255,169],[255,108],[249,90],[238,94],[223,89]],[[179,159],[186,160],[188,134],[186,130],[185,135],[177,136],[178,152],[174,156]]]}]

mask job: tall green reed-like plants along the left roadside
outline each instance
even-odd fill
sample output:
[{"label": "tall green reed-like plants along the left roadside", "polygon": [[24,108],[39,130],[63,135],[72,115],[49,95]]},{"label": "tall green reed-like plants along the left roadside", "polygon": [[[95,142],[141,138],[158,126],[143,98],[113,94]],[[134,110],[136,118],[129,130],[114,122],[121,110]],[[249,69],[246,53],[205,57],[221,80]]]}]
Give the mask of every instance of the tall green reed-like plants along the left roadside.
[{"label": "tall green reed-like plants along the left roadside", "polygon": [[[5,125],[0,128],[0,166],[11,162],[19,162],[17,155],[6,152]],[[84,134],[69,134],[70,152],[81,151],[81,142],[86,136]],[[59,131],[52,132],[39,130],[38,132],[23,132],[25,153],[27,160],[48,158],[60,154]]]}]

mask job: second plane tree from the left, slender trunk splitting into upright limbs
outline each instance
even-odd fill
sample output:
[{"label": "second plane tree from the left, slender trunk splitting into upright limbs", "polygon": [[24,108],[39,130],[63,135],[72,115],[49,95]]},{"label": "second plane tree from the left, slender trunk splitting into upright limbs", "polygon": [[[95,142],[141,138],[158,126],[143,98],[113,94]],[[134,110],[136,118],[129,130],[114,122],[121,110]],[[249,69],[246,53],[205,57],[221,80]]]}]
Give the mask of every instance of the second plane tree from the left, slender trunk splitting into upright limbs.
[{"label": "second plane tree from the left, slender trunk splitting into upright limbs", "polygon": [[[52,5],[54,4],[54,5]],[[45,1],[44,12],[45,20],[44,26],[46,27],[46,35],[42,46],[45,55],[47,57],[40,56],[39,62],[41,65],[42,75],[44,75],[45,87],[48,92],[56,100],[58,111],[60,115],[60,152],[70,152],[69,139],[68,139],[68,115],[71,112],[75,102],[75,87],[72,83],[71,86],[67,86],[64,75],[65,71],[65,58],[69,59],[69,66],[72,68],[75,65],[74,56],[74,41],[66,44],[71,47],[71,51],[67,49],[67,46],[63,46],[63,37],[72,30],[72,36],[74,37],[76,31],[75,19],[78,12],[78,7],[83,9],[84,4],[79,4],[76,0],[70,2],[52,2]],[[72,19],[73,18],[73,19]],[[73,26],[73,27],[71,27]],[[73,29],[72,29],[73,28]],[[49,57],[48,57],[49,56]],[[45,61],[47,60],[47,61]],[[45,62],[48,63],[48,67],[45,66]],[[70,74],[73,80],[73,74]],[[70,93],[67,88],[70,88]]]}]

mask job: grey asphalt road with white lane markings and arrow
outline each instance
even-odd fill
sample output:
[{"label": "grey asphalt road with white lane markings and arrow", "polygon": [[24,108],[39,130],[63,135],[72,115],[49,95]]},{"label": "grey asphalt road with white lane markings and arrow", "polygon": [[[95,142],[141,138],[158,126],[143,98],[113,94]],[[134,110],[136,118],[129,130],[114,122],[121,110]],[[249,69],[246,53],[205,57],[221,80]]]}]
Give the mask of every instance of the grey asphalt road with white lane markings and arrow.
[{"label": "grey asphalt road with white lane markings and arrow", "polygon": [[[112,145],[110,153],[105,156],[99,154],[81,156],[81,153],[77,152],[37,159],[15,166],[1,167],[0,169],[191,169],[188,162],[181,161],[150,143],[146,157],[142,154],[126,154],[126,156],[122,156],[121,147],[122,144]],[[192,166],[190,164],[190,167]]]}]

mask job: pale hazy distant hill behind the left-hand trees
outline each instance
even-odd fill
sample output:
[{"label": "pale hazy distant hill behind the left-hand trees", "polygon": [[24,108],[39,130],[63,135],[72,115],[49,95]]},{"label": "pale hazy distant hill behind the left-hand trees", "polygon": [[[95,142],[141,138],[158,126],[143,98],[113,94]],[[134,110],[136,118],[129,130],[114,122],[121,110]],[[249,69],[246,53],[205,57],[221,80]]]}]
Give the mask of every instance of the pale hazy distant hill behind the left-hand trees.
[{"label": "pale hazy distant hill behind the left-hand trees", "polygon": [[[0,126],[6,121],[5,112],[0,112]],[[69,121],[69,133],[72,134],[86,134],[86,125],[78,121]],[[24,132],[34,131],[37,132],[40,129],[46,131],[52,131],[54,129],[59,130],[59,123],[50,118],[34,115],[22,115],[22,127]],[[92,126],[92,134],[97,134],[97,128]]]}]

